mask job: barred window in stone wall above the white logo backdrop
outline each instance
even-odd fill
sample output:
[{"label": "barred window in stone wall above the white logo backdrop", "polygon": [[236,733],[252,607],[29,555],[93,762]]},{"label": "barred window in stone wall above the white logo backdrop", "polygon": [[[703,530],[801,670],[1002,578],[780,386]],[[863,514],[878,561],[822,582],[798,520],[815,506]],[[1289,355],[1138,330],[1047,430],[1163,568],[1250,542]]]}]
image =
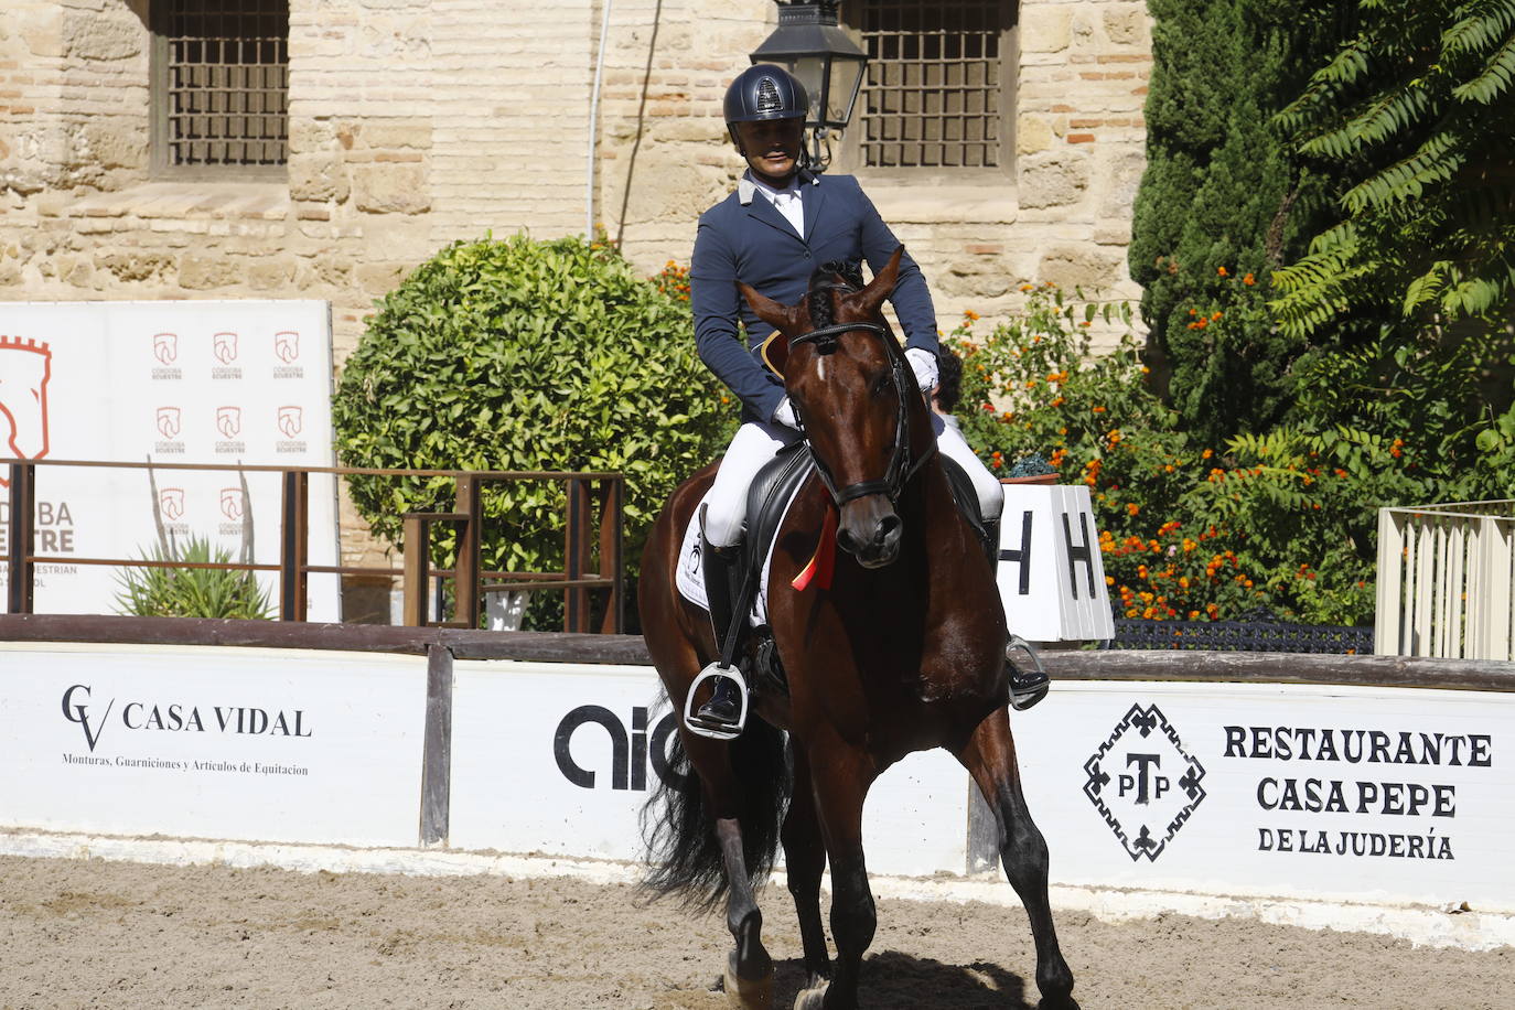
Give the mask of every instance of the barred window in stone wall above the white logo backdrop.
[{"label": "barred window in stone wall above the white logo backdrop", "polygon": [[153,162],[273,174],[289,150],[289,0],[153,0]]}]

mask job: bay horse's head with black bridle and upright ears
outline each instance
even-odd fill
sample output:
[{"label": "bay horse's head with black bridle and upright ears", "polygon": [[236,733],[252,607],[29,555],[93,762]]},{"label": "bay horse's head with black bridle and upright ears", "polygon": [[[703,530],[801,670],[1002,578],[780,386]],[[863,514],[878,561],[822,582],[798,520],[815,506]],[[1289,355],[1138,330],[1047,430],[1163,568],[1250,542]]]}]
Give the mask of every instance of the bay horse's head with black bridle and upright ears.
[{"label": "bay horse's head with black bridle and upright ears", "polygon": [[879,312],[894,291],[903,253],[903,245],[894,250],[867,286],[833,270],[817,271],[798,306],[741,285],[753,312],[779,332],[768,344],[768,362],[783,376],[836,501],[836,539],[865,568],[898,556],[903,521],[895,501],[914,471],[907,418],[924,412],[904,353]]}]

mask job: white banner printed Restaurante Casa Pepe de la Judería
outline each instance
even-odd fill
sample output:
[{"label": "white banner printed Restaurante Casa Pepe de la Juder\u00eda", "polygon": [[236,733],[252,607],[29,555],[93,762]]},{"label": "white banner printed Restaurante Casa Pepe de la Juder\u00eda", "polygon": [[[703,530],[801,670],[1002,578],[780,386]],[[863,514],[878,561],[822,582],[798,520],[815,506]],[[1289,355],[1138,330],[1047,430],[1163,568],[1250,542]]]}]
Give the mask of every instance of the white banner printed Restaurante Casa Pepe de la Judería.
[{"label": "white banner printed Restaurante Casa Pepe de la Juder\u00eda", "polygon": [[1015,715],[1056,883],[1515,910],[1515,697],[1060,681]]}]

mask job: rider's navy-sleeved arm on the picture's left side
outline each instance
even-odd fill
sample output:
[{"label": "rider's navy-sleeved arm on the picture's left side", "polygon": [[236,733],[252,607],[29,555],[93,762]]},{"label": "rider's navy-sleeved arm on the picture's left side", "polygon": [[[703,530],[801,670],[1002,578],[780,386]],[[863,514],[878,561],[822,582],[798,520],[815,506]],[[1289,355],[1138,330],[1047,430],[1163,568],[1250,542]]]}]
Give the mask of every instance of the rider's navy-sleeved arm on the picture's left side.
[{"label": "rider's navy-sleeved arm on the picture's left side", "polygon": [[736,256],[720,226],[700,218],[689,263],[689,304],[694,309],[694,342],[700,360],[730,386],[744,406],[771,419],[783,400],[758,359],[738,339],[741,294],[736,291]]}]

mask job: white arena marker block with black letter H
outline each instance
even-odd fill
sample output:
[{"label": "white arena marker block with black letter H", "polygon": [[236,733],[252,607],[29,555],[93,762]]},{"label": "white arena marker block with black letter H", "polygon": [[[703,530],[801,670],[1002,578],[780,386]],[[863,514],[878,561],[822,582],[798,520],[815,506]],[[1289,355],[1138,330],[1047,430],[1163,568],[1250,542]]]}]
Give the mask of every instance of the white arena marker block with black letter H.
[{"label": "white arena marker block with black letter H", "polygon": [[1000,601],[1012,634],[1032,642],[1115,636],[1104,557],[1083,485],[1006,485]]}]

